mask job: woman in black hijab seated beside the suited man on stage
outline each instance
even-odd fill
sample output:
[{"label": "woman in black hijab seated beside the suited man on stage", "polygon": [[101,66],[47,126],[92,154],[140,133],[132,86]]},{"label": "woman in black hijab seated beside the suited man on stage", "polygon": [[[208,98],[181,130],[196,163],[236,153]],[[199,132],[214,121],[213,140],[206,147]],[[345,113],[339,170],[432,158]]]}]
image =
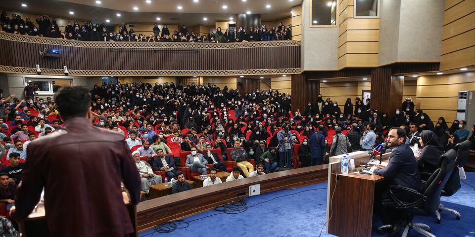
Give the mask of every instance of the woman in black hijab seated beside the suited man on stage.
[{"label": "woman in black hijab seated beside the suited man on stage", "polygon": [[433,173],[438,168],[439,157],[444,154],[439,137],[433,131],[424,130],[419,142],[423,147],[416,159],[419,171]]}]

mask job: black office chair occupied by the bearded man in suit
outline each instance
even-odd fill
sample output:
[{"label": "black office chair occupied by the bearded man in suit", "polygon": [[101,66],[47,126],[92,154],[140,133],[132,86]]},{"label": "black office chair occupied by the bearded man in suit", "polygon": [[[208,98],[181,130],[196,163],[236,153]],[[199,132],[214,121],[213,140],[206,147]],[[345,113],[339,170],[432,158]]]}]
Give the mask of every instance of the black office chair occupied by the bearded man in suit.
[{"label": "black office chair occupied by the bearded man in suit", "polygon": [[[412,221],[415,215],[431,216],[437,210],[440,203],[442,189],[454,171],[456,156],[457,153],[455,150],[449,150],[447,153],[440,156],[440,168],[435,170],[429,177],[421,192],[398,185],[389,186],[392,199],[383,200],[382,205],[386,208],[398,209],[406,212],[407,224],[402,234],[403,237],[406,237],[411,229],[414,229],[427,237],[435,237],[430,233],[430,227],[428,225],[424,223],[413,223]],[[418,197],[418,199],[413,202],[401,200],[393,194],[395,191],[413,194]],[[378,227],[378,233],[382,233],[383,228],[392,228],[392,225]]]}]

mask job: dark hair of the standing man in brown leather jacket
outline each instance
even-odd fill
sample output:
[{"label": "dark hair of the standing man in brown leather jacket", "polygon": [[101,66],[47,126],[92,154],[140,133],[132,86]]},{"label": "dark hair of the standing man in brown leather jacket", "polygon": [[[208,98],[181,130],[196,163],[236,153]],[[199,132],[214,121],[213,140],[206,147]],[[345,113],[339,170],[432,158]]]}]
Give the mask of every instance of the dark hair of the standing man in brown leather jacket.
[{"label": "dark hair of the standing man in brown leather jacket", "polygon": [[76,117],[86,117],[91,107],[89,89],[79,85],[65,85],[54,96],[56,109],[63,120]]}]

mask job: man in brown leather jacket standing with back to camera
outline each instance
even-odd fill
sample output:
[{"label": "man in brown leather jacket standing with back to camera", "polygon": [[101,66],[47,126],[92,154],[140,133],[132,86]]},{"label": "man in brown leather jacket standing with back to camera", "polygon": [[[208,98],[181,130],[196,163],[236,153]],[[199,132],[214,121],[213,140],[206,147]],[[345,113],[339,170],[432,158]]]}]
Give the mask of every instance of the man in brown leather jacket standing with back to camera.
[{"label": "man in brown leather jacket standing with back to camera", "polygon": [[26,218],[45,188],[50,237],[123,237],[134,232],[121,181],[131,202],[140,201],[140,175],[123,135],[91,124],[91,94],[64,86],[54,101],[63,129],[28,146],[11,216]]}]

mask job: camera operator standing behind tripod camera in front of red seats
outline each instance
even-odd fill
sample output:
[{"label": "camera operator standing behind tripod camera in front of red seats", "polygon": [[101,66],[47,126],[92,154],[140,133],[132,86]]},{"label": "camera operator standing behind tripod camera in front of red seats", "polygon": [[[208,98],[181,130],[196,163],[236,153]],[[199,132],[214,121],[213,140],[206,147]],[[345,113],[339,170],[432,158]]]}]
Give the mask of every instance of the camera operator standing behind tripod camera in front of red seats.
[{"label": "camera operator standing behind tripod camera in front of red seats", "polygon": [[289,131],[290,125],[287,122],[282,124],[282,129],[277,132],[277,141],[279,145],[279,167],[292,168],[292,133]]}]

